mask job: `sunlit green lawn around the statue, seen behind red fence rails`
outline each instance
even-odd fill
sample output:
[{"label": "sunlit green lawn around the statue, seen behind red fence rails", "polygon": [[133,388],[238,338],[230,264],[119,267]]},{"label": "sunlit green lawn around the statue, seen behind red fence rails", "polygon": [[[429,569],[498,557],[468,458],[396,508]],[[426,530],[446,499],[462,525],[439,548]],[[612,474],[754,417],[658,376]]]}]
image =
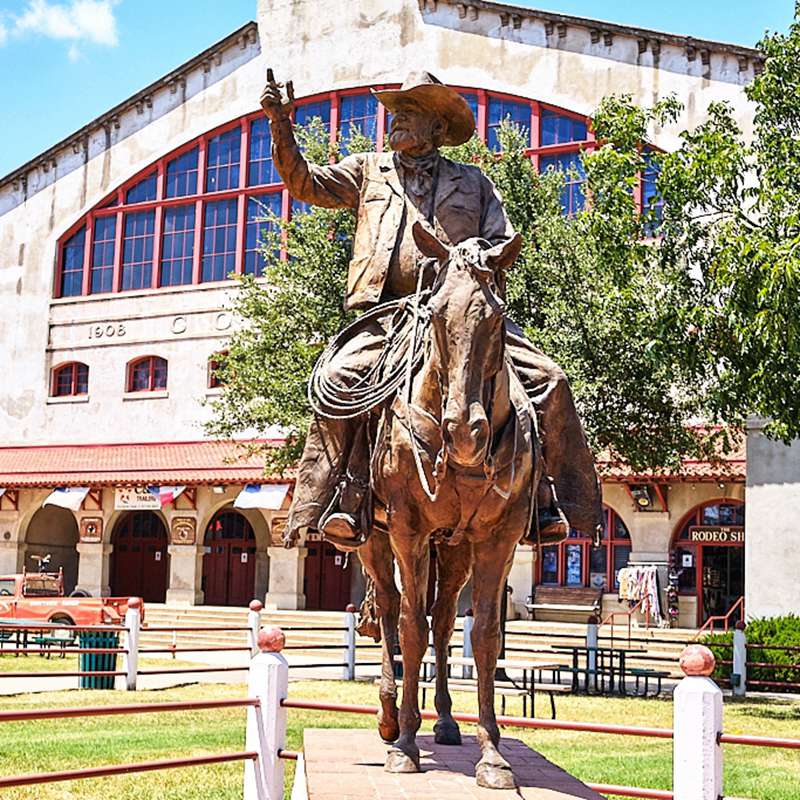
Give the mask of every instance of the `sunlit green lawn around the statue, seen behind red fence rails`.
[{"label": "sunlit green lawn around the statue, seen behind red fence rails", "polygon": [[[295,698],[344,703],[376,703],[371,683],[298,681]],[[0,698],[0,709],[46,706],[166,702],[244,697],[244,685],[186,686],[158,692],[51,692]],[[475,696],[455,693],[456,707],[473,711]],[[667,700],[560,697],[559,718],[627,725],[671,727]],[[544,702],[542,702],[544,710]],[[162,759],[180,755],[232,752],[244,746],[244,709],[214,712],[142,714],[81,720],[3,723],[0,772],[19,774],[86,767],[110,762]],[[518,713],[511,706],[509,713]],[[299,749],[306,727],[373,727],[371,717],[292,710],[287,746]],[[430,730],[430,724],[425,725]],[[725,730],[800,739],[800,702],[763,700],[729,702]],[[586,781],[669,788],[671,743],[566,731],[508,730],[545,756]],[[726,794],[758,800],[797,800],[800,757],[797,751],[741,746],[725,747]],[[293,771],[288,763],[287,786]],[[4,800],[240,800],[242,765],[230,764],[143,773],[132,776],[65,782],[3,791]]]}]

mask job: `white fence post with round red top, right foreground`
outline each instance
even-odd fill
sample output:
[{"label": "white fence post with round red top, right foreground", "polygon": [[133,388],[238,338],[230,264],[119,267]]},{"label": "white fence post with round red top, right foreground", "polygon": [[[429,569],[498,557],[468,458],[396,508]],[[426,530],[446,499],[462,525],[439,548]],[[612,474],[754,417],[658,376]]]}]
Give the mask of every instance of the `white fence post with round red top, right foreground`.
[{"label": "white fence post with round red top, right foreground", "polygon": [[709,677],[714,654],[692,644],[681,653],[686,677],[673,695],[674,800],[718,800],[722,792],[722,691]]}]

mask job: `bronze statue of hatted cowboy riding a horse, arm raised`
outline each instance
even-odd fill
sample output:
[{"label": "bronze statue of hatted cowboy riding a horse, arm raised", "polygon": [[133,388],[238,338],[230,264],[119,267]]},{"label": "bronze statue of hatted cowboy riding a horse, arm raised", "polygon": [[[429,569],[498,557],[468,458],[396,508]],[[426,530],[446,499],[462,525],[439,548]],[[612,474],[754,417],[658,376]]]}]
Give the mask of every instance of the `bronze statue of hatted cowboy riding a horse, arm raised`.
[{"label": "bronze statue of hatted cowboy riding a horse, arm raised", "polygon": [[[475,166],[442,157],[473,134],[466,101],[429,73],[376,92],[393,114],[391,152],[309,164],[295,142],[293,92],[268,72],[261,104],[274,163],[293,197],[357,215],[345,305],[364,313],[315,367],[315,410],[286,535],[320,530],[357,549],[383,638],[379,729],[386,768],[419,769],[417,681],[427,647],[430,542],[437,658],[436,739],[460,743],[446,684],[456,601],[470,576],[482,749],[478,783],[508,788],[497,747],[499,604],[516,545],[601,524],[600,491],[563,372],[505,315],[505,274],[521,247]],[[377,533],[372,533],[377,531]],[[372,535],[371,535],[372,534]],[[394,580],[400,572],[402,595]],[[393,663],[402,645],[397,709]]]}]

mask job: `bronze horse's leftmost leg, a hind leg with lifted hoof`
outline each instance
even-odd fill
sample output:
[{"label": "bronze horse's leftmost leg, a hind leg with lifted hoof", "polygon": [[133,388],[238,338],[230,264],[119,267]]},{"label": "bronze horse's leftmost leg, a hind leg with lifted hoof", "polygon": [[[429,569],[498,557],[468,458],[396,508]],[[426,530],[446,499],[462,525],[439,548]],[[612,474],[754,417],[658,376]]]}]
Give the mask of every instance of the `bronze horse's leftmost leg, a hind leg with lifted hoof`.
[{"label": "bronze horse's leftmost leg, a hind leg with lifted hoof", "polygon": [[400,613],[400,592],[394,581],[394,557],[389,537],[373,531],[366,543],[358,549],[358,556],[367,574],[375,584],[375,602],[381,621],[382,666],[378,696],[378,732],[385,742],[393,742],[400,735],[397,720],[397,683],[394,677],[394,655],[397,651],[397,618]]}]

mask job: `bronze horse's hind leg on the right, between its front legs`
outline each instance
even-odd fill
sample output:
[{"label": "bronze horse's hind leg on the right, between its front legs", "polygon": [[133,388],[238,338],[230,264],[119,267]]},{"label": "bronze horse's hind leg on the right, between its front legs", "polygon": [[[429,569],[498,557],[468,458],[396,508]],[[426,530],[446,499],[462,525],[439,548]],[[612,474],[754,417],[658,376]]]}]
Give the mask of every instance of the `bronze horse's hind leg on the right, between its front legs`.
[{"label": "bronze horse's hind leg on the right, between its front legs", "polygon": [[438,576],[433,617],[433,646],[436,651],[436,711],[439,719],[433,726],[437,744],[461,744],[461,732],[453,719],[453,701],[447,687],[447,653],[456,619],[458,596],[469,579],[472,568],[472,545],[465,538],[461,544],[436,545]]}]

